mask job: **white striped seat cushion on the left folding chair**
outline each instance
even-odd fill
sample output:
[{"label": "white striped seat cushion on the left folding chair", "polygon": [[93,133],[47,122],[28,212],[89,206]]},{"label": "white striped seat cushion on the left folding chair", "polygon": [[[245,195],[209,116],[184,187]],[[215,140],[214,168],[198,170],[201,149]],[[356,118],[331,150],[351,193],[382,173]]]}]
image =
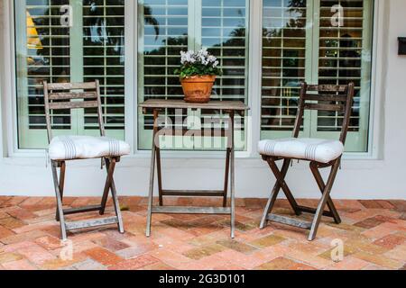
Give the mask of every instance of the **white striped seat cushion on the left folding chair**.
[{"label": "white striped seat cushion on the left folding chair", "polygon": [[49,154],[52,160],[119,157],[130,154],[130,145],[106,137],[58,136],[51,140]]}]

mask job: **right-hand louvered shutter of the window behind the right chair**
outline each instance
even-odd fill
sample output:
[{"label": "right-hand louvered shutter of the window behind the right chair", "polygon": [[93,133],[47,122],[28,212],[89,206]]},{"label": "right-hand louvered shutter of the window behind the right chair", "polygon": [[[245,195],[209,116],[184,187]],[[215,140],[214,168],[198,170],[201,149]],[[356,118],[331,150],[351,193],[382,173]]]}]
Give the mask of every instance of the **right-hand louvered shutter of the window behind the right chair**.
[{"label": "right-hand louvered shutter of the window behind the right chair", "polygon": [[[333,5],[343,8],[342,26],[333,25]],[[372,12],[370,0],[320,1],[318,83],[355,83],[355,101],[349,126],[348,151],[365,151],[371,79]],[[336,14],[337,15],[337,14]],[[328,137],[341,130],[343,113],[318,112],[317,132]],[[337,135],[336,135],[337,137]]]}]

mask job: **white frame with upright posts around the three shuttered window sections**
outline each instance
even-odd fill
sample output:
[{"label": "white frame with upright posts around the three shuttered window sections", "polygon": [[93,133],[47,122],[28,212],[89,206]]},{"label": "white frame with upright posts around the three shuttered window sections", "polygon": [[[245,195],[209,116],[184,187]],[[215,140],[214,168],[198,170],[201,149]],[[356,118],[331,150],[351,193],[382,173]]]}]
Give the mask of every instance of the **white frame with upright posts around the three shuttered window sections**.
[{"label": "white frame with upright posts around the three shuttered window sections", "polygon": [[[14,24],[14,1],[5,2],[5,87],[3,97],[3,109],[5,119],[3,129],[6,135],[7,157],[44,157],[43,149],[22,149],[18,148],[18,118],[17,118],[17,98],[16,98],[16,66],[15,66],[15,24]],[[384,0],[374,0],[374,25],[373,25],[373,43],[372,43],[372,73],[371,73],[371,98],[370,98],[370,117],[368,133],[368,152],[348,152],[344,155],[345,159],[368,160],[379,159],[382,157],[383,135],[382,114],[383,88],[385,61],[383,55],[385,50],[385,34],[383,23],[385,23],[387,5]],[[248,27],[249,35],[249,68],[248,68],[248,105],[251,110],[246,122],[247,129],[247,149],[246,151],[236,152],[236,157],[240,158],[258,158],[256,143],[260,140],[261,127],[261,59],[262,59],[262,35],[263,27],[263,2],[250,0],[250,25]],[[151,151],[138,150],[137,145],[137,60],[138,57],[134,51],[138,47],[139,27],[136,17],[138,15],[137,2],[134,0],[125,0],[125,140],[131,145],[132,153],[130,157],[150,157]],[[130,53],[128,52],[130,51]],[[133,52],[131,52],[133,51]],[[7,68],[9,67],[9,68]],[[257,96],[255,96],[257,95]],[[11,98],[10,98],[11,97]],[[193,155],[197,158],[217,158],[224,157],[222,151],[167,151],[163,157],[187,158]]]}]

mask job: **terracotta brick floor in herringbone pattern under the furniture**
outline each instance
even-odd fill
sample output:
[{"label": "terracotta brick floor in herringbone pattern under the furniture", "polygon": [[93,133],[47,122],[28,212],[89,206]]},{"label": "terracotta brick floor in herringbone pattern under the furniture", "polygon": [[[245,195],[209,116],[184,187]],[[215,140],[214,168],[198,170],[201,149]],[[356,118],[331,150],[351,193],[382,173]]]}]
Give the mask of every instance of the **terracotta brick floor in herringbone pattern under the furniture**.
[{"label": "terracotta brick floor in herringbone pattern under the furniture", "polygon": [[[97,202],[96,198],[65,199],[73,207]],[[61,243],[53,198],[0,197],[0,270],[406,269],[406,201],[337,201],[343,223],[323,219],[313,242],[307,241],[302,229],[275,223],[258,229],[264,205],[259,199],[237,200],[234,240],[229,238],[229,218],[211,215],[155,214],[152,237],[145,238],[145,202],[139,197],[121,198],[125,235],[115,226],[88,229],[69,233],[69,241]],[[166,200],[175,202],[219,201]],[[278,201],[277,212],[290,213],[287,202]],[[344,243],[340,262],[331,260],[332,242],[337,239]]]}]

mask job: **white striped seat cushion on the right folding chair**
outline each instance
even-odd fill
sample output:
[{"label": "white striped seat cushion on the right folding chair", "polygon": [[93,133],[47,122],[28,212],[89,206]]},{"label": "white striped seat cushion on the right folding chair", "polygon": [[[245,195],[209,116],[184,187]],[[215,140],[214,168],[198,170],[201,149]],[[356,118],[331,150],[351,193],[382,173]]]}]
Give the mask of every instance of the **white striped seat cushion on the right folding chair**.
[{"label": "white striped seat cushion on the right folding chair", "polygon": [[258,151],[266,156],[328,163],[343,154],[344,146],[338,140],[329,139],[267,139],[259,142]]}]

